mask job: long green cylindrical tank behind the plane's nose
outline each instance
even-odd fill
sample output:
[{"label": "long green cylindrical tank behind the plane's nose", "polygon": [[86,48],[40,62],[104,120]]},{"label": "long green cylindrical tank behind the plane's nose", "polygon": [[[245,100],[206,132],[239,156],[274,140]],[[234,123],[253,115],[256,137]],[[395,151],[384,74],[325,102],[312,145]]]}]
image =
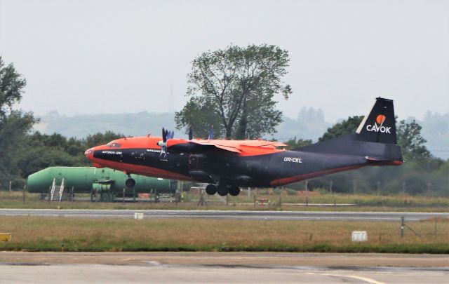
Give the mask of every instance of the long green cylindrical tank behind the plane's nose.
[{"label": "long green cylindrical tank behind the plane's nose", "polygon": [[[132,175],[135,180],[135,192],[175,192],[176,182],[163,180],[156,177]],[[123,191],[125,181],[128,178],[125,173],[109,168],[94,167],[51,167],[29,175],[27,188],[29,192],[48,192],[53,184],[60,185],[62,179],[66,189],[74,188],[74,192],[88,193],[92,189]]]}]

